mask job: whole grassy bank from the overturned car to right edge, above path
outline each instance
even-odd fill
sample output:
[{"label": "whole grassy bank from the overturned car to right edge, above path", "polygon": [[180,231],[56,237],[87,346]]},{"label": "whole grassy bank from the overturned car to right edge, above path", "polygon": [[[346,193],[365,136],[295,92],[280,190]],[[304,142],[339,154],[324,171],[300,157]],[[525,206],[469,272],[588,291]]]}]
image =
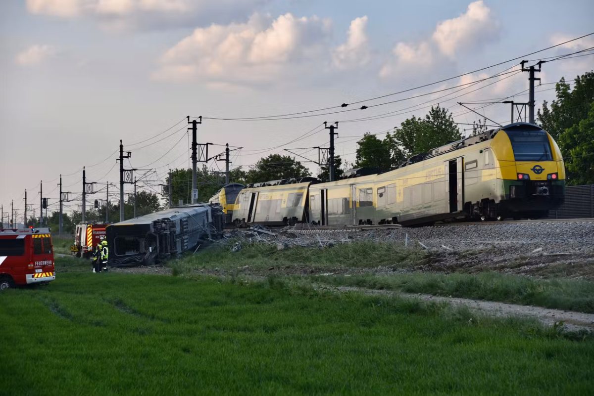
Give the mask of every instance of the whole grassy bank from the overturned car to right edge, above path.
[{"label": "whole grassy bank from the overturned car to right edge, above path", "polygon": [[[209,247],[199,254],[172,260],[168,266],[173,274],[214,268],[226,270],[228,274],[248,270],[252,274],[268,275],[268,268],[279,269],[285,274],[308,274],[308,270],[314,269],[317,273],[336,272],[333,276],[314,277],[318,282],[335,286],[428,293],[594,313],[594,282],[586,280],[537,279],[495,272],[361,275],[355,271],[344,276],[350,269],[389,267],[406,270],[431,260],[424,250],[405,250],[395,244],[355,242],[340,247],[295,247],[280,251],[275,245],[244,244],[237,252],[230,251],[229,247]],[[245,266],[248,269],[244,269]]]}]

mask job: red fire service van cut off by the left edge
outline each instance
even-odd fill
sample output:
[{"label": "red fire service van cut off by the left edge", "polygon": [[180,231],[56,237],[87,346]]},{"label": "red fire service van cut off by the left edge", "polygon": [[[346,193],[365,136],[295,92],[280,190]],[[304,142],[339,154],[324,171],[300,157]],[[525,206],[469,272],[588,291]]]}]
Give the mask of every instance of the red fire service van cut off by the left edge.
[{"label": "red fire service van cut off by the left edge", "polygon": [[0,290],[55,279],[49,228],[0,229]]}]

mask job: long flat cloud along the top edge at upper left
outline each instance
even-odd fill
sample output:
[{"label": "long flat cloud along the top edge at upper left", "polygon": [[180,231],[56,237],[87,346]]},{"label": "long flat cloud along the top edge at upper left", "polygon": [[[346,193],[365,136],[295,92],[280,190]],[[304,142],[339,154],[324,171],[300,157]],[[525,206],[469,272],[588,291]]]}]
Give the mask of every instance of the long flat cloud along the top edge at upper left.
[{"label": "long flat cloud along the top edge at upper left", "polygon": [[108,28],[159,29],[243,18],[270,0],[27,0],[31,14],[90,18]]}]

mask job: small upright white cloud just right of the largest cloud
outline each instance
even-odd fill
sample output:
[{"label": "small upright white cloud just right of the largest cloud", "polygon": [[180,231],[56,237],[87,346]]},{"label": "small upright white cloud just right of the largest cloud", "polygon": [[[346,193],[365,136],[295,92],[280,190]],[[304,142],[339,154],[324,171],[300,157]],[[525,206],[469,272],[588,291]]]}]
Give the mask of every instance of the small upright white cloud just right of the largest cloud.
[{"label": "small upright white cloud just right of the largest cloud", "polygon": [[369,39],[366,33],[367,17],[359,17],[350,22],[349,33],[344,44],[333,53],[333,63],[339,69],[365,66],[371,60]]}]

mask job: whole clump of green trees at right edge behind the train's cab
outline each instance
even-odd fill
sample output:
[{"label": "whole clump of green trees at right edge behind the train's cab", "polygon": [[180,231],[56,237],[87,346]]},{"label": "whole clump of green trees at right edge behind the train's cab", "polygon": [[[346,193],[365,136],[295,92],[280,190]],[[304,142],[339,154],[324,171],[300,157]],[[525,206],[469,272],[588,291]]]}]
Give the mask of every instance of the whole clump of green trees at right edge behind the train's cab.
[{"label": "whole clump of green trees at right edge behind the train's cab", "polygon": [[568,184],[594,183],[592,158],[592,104],[594,72],[577,76],[573,87],[564,78],[555,85],[557,99],[549,108],[546,101],[538,111],[542,129],[557,140],[567,171]]}]

